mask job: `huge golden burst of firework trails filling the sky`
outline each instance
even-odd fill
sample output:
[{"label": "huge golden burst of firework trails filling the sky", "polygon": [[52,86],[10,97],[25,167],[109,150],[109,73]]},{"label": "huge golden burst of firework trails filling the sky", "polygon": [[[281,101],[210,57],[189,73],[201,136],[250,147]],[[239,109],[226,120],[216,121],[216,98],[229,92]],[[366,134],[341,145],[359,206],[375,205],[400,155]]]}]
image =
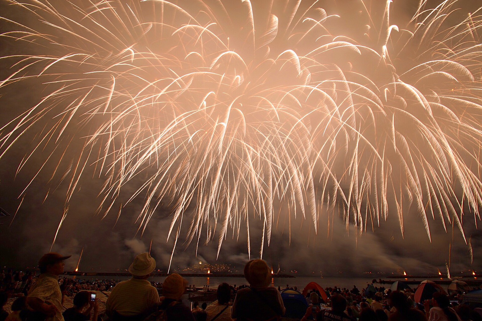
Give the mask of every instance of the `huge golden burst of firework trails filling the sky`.
[{"label": "huge golden burst of firework trails filling the sky", "polygon": [[461,2],[406,18],[402,1],[344,15],[314,0],[0,0],[0,100],[34,97],[4,120],[0,161],[28,143],[21,197],[48,174],[68,206],[94,176],[98,214],[139,200],[143,232],[168,207],[168,240],[218,254],[242,233],[250,252],[259,224],[262,255],[280,216],[362,233],[390,213],[403,234],[410,212],[465,240],[482,205],[482,18]]}]

